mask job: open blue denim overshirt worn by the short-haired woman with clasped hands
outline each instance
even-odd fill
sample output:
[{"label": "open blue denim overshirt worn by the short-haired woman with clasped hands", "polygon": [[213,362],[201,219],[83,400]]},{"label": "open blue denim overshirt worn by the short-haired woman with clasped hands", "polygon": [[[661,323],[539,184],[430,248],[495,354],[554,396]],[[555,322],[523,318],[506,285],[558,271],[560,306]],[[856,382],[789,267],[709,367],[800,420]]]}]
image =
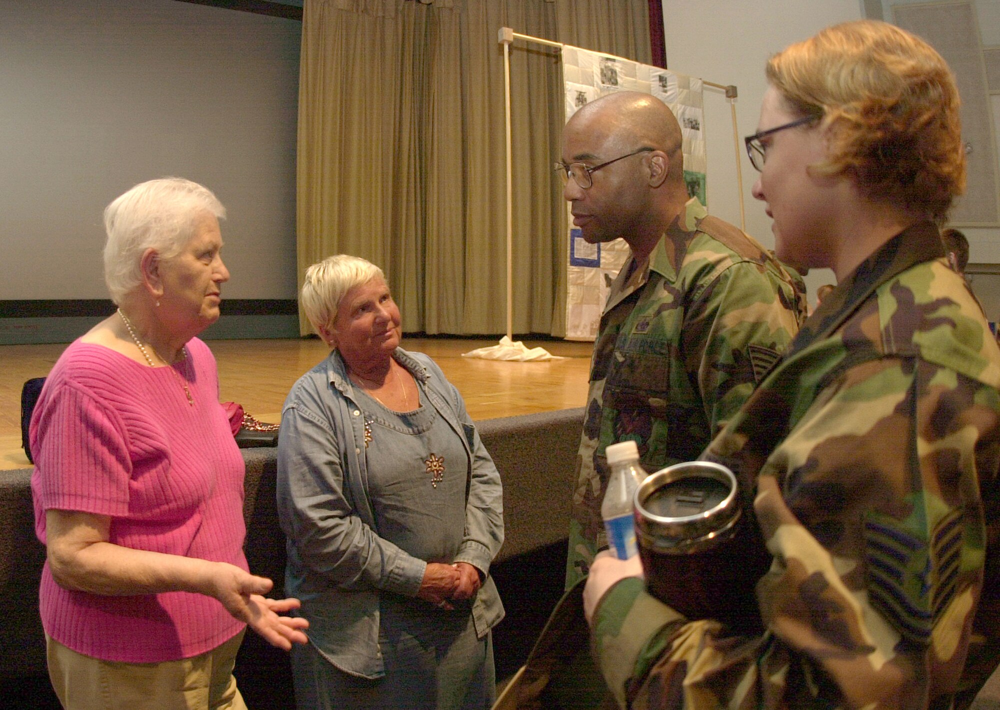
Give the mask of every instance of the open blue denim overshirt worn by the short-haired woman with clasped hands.
[{"label": "open blue denim overshirt worn by the short-haired woman with clasped hands", "polygon": [[[453,562],[485,575],[472,603],[482,638],[504,613],[489,576],[503,543],[500,474],[441,369],[423,353],[397,348],[393,357],[423,385],[466,450],[465,536]],[[415,597],[427,563],[379,536],[364,451],[364,416],[335,350],[299,378],[281,413],[277,500],[288,537],[285,591],[302,601],[309,640],[328,661],[351,675],[380,678],[379,593]]]}]

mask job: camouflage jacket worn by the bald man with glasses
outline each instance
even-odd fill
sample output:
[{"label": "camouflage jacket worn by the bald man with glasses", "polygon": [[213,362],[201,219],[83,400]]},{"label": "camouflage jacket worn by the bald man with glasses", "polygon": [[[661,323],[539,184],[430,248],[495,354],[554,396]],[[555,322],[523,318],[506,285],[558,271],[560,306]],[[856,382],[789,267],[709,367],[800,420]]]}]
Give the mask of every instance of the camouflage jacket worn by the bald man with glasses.
[{"label": "camouflage jacket worn by the bald man with glasses", "polygon": [[594,344],[567,589],[606,545],[605,447],[635,440],[647,471],[696,458],[791,342],[796,308],[781,265],[736,227],[707,216],[697,199],[647,264],[629,259]]}]

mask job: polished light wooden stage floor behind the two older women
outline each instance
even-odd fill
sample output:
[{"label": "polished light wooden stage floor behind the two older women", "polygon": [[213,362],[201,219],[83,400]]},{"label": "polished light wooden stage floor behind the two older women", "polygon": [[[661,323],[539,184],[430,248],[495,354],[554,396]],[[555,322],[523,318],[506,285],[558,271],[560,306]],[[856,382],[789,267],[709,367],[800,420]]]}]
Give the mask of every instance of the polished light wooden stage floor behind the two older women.
[{"label": "polished light wooden stage floor behind the two older women", "polygon": [[[463,358],[496,340],[404,338],[403,347],[430,355],[465,398],[473,420],[582,407],[592,343],[524,341],[562,360],[501,362]],[[222,401],[239,402],[262,421],[277,422],[285,395],[299,376],[326,357],[316,338],[211,340],[219,364]],[[65,349],[56,345],[0,346],[0,470],[30,466],[21,449],[21,386],[47,375]]]}]

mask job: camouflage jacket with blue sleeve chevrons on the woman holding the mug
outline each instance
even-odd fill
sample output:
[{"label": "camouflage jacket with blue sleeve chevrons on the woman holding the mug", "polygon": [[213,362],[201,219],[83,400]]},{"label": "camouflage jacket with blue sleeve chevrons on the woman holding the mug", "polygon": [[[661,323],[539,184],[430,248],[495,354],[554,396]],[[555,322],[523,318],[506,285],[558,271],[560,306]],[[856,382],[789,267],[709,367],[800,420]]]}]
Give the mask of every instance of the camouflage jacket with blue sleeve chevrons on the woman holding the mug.
[{"label": "camouflage jacket with blue sleeve chevrons on the woman holding the mug", "polygon": [[623,580],[593,620],[619,702],[948,708],[970,639],[995,647],[1000,349],[941,255],[923,223],[869,257],[705,452],[736,472],[773,555],[763,633],[684,619]]}]

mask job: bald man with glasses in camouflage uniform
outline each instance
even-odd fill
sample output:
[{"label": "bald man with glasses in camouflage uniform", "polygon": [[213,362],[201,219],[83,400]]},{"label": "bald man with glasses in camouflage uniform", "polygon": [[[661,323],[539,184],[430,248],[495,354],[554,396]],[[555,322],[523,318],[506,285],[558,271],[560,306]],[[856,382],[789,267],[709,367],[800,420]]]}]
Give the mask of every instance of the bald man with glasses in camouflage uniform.
[{"label": "bald man with glasses in camouflage uniform", "polygon": [[574,225],[591,244],[621,238],[632,252],[594,344],[567,588],[607,545],[605,448],[634,440],[648,472],[697,458],[798,331],[788,273],[689,198],[683,160],[677,119],[648,94],[592,101],[563,132]]}]

